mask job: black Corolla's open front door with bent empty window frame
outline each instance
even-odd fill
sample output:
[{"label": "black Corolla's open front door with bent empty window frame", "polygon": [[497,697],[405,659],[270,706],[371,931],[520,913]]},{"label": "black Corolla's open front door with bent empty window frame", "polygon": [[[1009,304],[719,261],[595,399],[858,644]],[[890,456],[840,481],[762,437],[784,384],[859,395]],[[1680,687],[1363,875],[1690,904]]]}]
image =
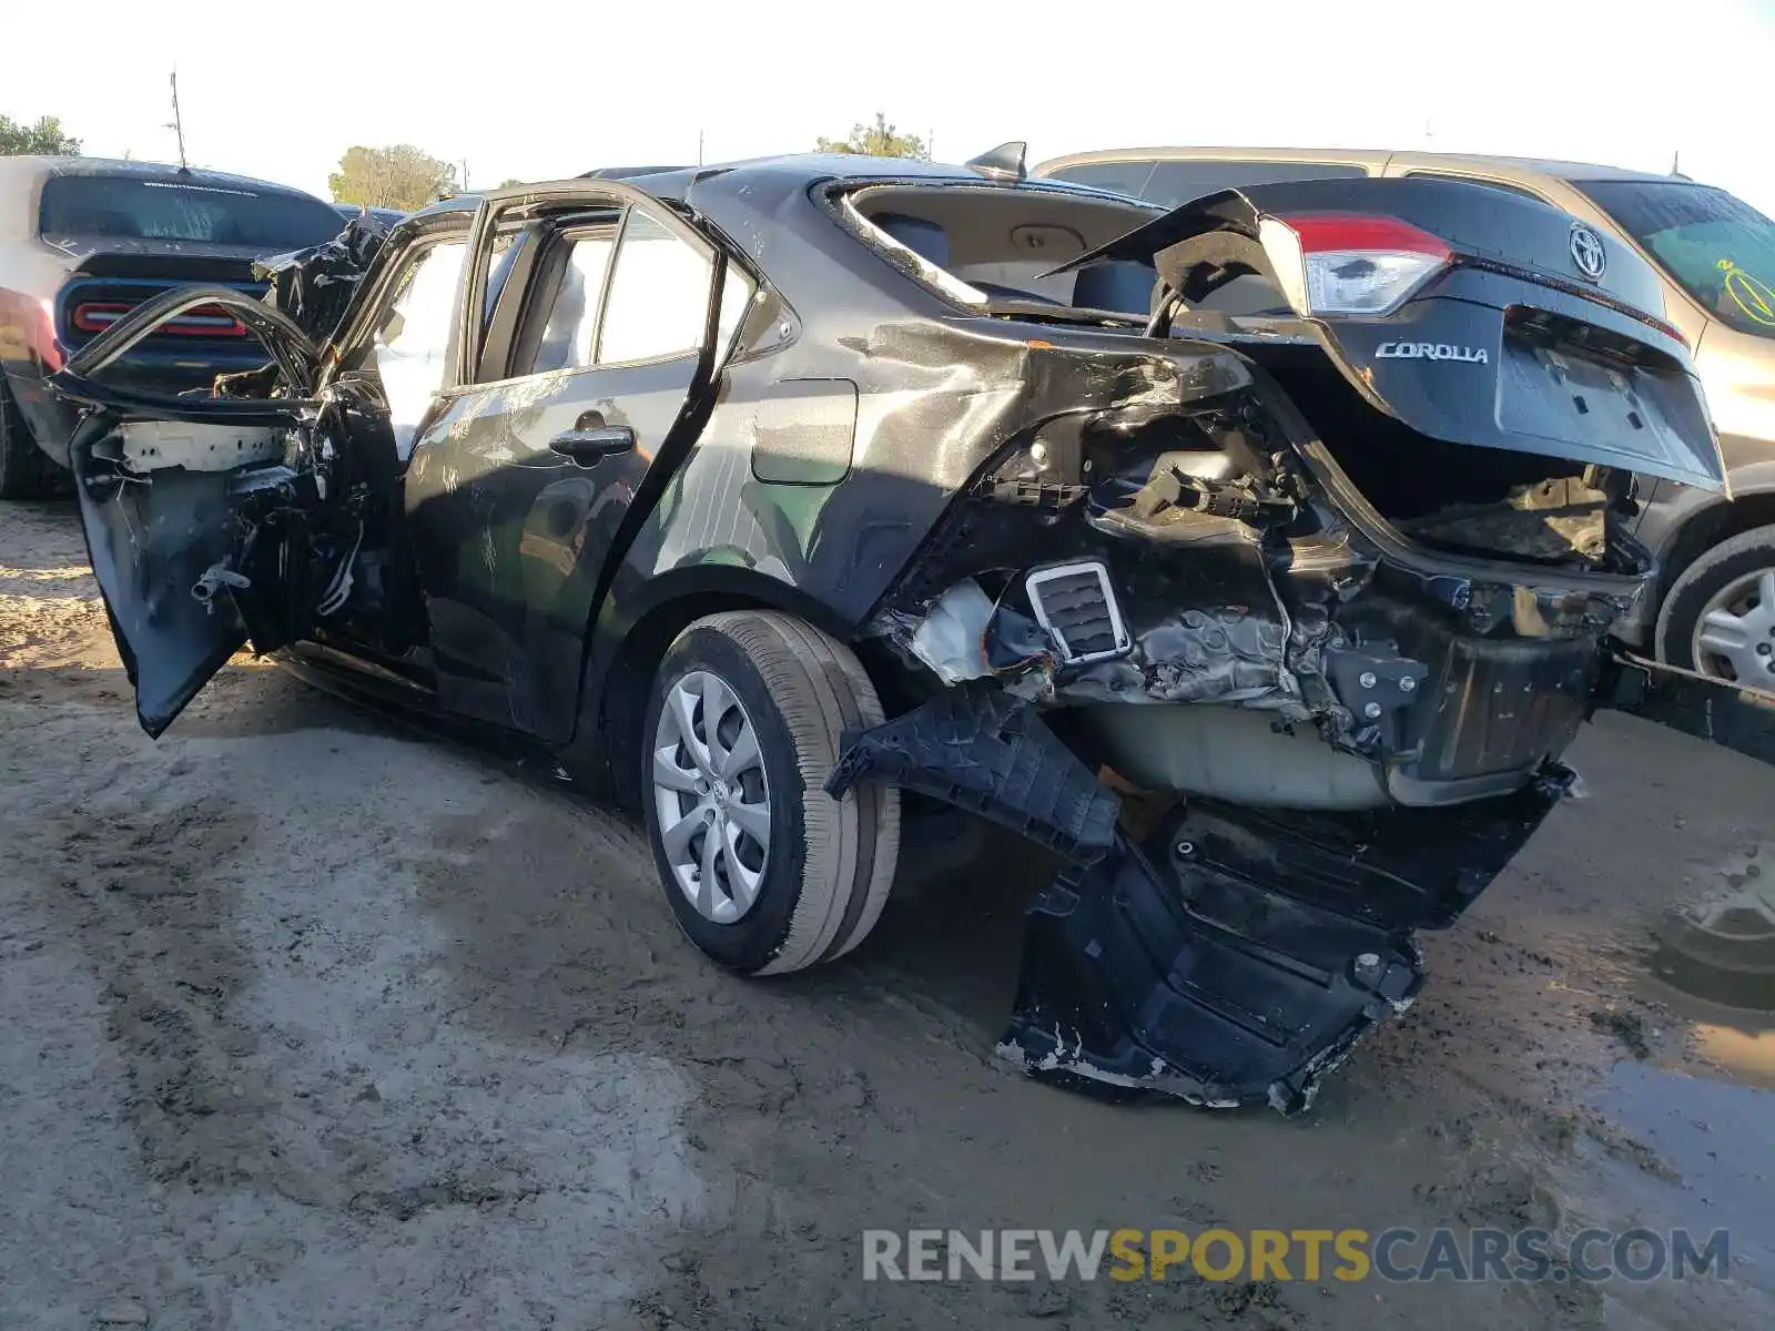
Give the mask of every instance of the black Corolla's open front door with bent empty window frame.
[{"label": "black Corolla's open front door with bent empty window frame", "polygon": [[183,287],[144,303],[51,380],[85,408],[69,444],[80,522],[137,715],[154,736],[243,644],[284,646],[339,595],[314,577],[335,555],[332,534],[314,524],[327,486],[316,403],[105,385],[106,366],[197,307],[245,323],[279,385],[309,390],[316,360],[302,332],[227,287]]}]

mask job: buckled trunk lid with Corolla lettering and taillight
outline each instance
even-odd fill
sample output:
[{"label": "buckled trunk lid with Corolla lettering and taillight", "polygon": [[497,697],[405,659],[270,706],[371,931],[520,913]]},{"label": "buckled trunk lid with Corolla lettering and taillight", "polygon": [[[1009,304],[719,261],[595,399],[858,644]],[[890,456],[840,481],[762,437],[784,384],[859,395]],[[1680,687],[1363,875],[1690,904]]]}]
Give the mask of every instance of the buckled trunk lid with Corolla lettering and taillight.
[{"label": "buckled trunk lid with Corolla lettering and taillight", "polygon": [[[1157,268],[1187,307],[1179,334],[1314,343],[1431,438],[1725,488],[1658,275],[1534,199],[1432,179],[1227,190],[1054,272],[1109,259]],[[1269,284],[1282,314],[1223,312],[1239,279]]]}]

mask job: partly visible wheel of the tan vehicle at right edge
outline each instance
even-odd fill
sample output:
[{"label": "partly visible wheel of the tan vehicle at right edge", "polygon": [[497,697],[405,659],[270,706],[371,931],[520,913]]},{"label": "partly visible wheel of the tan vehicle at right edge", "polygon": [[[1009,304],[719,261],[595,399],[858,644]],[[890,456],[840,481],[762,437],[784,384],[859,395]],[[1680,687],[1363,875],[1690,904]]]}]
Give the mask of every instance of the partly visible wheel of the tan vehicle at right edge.
[{"label": "partly visible wheel of the tan vehicle at right edge", "polygon": [[1720,541],[1683,570],[1658,616],[1658,655],[1775,692],[1775,527]]}]

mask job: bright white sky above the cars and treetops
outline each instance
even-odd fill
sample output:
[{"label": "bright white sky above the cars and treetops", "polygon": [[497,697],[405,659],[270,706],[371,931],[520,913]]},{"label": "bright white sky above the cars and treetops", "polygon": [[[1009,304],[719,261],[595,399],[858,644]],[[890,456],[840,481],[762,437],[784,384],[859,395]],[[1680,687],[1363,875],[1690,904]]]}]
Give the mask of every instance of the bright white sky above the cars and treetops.
[{"label": "bright white sky above the cars and treetops", "polygon": [[178,67],[192,165],[321,197],[353,144],[490,186],[696,161],[699,137],[705,161],[811,149],[880,110],[950,161],[1008,138],[1031,165],[1138,144],[1676,158],[1775,215],[1775,0],[406,9],[21,4],[0,114],[178,160]]}]

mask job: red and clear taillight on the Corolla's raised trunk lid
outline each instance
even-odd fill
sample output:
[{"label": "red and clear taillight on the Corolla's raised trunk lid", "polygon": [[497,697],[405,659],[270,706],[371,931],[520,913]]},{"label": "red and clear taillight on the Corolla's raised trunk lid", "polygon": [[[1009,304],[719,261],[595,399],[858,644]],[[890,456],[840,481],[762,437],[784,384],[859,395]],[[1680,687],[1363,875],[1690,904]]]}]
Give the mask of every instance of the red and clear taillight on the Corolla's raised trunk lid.
[{"label": "red and clear taillight on the Corolla's raised trunk lid", "polygon": [[1392,314],[1448,266],[1447,241],[1393,217],[1266,217],[1258,240],[1303,314]]}]

